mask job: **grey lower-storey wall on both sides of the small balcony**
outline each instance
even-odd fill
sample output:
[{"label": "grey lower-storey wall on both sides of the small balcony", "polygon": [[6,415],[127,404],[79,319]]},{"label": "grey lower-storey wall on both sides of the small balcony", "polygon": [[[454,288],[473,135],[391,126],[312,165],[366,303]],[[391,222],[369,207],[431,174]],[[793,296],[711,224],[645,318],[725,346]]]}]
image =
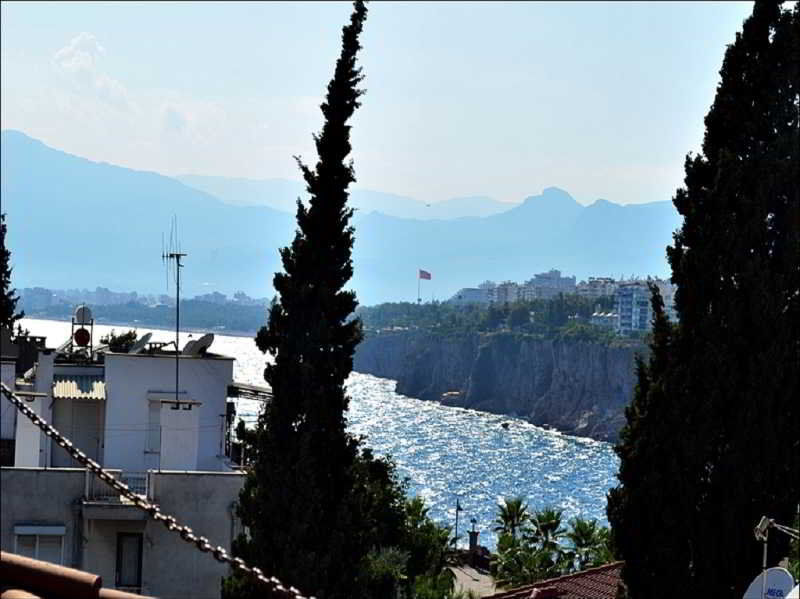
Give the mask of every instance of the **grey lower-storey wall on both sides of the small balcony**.
[{"label": "grey lower-storey wall on both sides of the small balcony", "polygon": [[[4,490],[0,515],[0,546],[14,551],[14,525],[58,524],[66,527],[64,565],[102,576],[104,585],[116,580],[116,543],[119,532],[143,533],[142,592],[162,599],[218,599],[228,567],[202,553],[180,536],[150,519],[131,520],[118,506],[119,519],[110,514],[84,520],[81,499],[85,491],[82,469],[3,468]],[[165,514],[205,536],[212,545],[230,551],[235,534],[233,506],[244,483],[240,473],[151,472],[150,495]],[[14,489],[9,493],[8,489]],[[138,512],[137,512],[138,514]],[[81,532],[86,535],[81,544]]]}]

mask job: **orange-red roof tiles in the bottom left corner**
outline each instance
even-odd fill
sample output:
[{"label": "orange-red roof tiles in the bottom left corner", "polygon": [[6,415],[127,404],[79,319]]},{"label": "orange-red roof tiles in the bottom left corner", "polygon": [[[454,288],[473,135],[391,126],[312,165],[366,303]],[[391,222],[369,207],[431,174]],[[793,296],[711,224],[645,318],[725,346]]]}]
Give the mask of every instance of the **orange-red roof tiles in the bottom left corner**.
[{"label": "orange-red roof tiles in the bottom left corner", "polygon": [[95,574],[0,551],[0,599],[147,598],[104,589]]}]

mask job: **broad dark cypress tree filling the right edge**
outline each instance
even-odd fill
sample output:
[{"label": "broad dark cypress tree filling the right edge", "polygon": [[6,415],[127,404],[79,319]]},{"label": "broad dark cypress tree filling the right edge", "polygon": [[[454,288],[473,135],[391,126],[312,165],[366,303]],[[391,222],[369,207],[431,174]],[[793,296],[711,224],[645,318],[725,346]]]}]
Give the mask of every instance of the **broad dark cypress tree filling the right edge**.
[{"label": "broad dark cypress tree filling the right edge", "polygon": [[[634,598],[740,596],[760,569],[753,527],[800,500],[798,69],[800,7],[757,1],[674,198],[680,324],[640,369],[609,496]],[[770,561],[784,555],[773,535]]]}]

